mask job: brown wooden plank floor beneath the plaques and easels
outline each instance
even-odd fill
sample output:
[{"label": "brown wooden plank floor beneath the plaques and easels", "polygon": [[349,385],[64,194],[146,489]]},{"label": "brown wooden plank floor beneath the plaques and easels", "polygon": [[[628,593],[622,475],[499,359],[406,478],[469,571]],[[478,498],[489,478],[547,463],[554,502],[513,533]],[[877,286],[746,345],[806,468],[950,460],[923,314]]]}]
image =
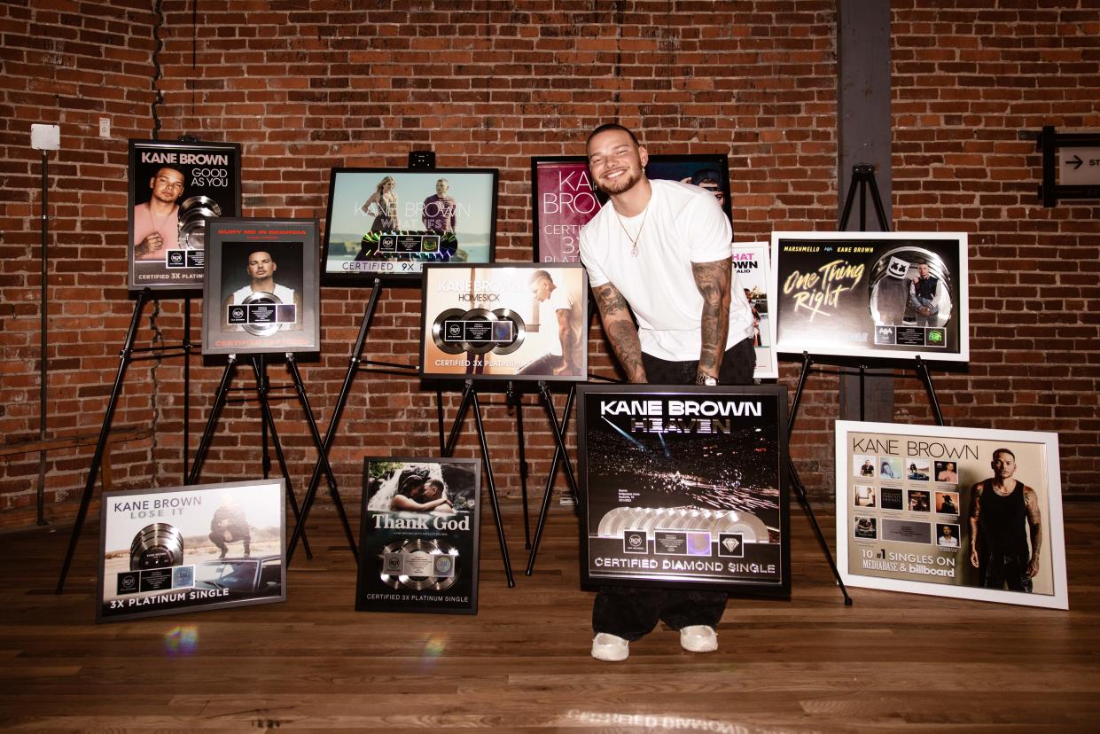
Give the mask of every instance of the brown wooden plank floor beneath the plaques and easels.
[{"label": "brown wooden plank floor beneath the plaques and easels", "polygon": [[[54,593],[65,528],[0,537],[0,726],[79,731],[1033,732],[1100,721],[1100,505],[1067,504],[1069,612],[853,589],[846,607],[792,503],[790,601],[732,602],[721,649],[659,629],[588,657],[576,522],[554,503],[532,577],[491,516],[476,616],[356,613],[354,562],[319,502],[289,601],[94,623],[98,528]],[[832,517],[822,516],[828,527]],[[356,525],[358,527],[358,525]]]}]

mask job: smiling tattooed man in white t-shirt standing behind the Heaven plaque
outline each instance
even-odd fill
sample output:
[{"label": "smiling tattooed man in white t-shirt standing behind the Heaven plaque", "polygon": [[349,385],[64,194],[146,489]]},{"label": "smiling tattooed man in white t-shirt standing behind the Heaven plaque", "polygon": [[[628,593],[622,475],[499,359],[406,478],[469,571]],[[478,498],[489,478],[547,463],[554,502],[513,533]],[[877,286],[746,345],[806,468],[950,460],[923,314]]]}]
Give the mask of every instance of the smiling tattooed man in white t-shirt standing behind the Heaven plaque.
[{"label": "smiling tattooed man in white t-shirt standing behind the Heaven plaque", "polygon": [[[593,131],[587,157],[593,185],[609,200],[581,230],[581,261],[627,379],[750,383],[752,311],[733,287],[733,230],[717,199],[697,186],[649,180],[646,149],[618,124]],[[684,649],[714,650],[725,606],[724,593],[603,588],[592,611],[592,656],[626,659],[629,642],[659,620],[680,631]]]}]

